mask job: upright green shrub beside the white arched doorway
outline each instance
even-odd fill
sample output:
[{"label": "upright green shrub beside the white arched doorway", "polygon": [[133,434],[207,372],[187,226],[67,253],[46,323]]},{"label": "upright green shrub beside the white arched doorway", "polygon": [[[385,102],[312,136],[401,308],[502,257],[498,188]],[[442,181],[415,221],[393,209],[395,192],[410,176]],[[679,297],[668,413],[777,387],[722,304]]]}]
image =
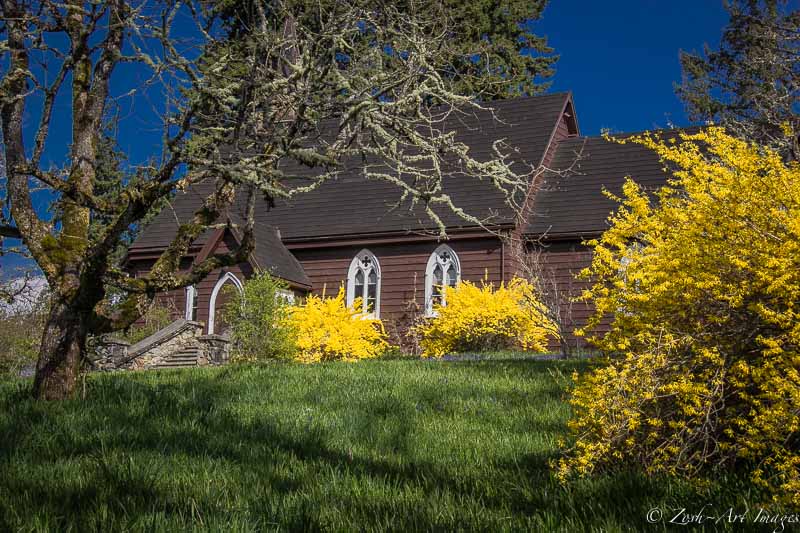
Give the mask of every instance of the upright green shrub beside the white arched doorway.
[{"label": "upright green shrub beside the white arched doorway", "polygon": [[234,291],[225,306],[230,327],[233,360],[238,362],[288,359],[295,345],[284,318],[288,302],[282,296],[286,283],[261,272]]}]

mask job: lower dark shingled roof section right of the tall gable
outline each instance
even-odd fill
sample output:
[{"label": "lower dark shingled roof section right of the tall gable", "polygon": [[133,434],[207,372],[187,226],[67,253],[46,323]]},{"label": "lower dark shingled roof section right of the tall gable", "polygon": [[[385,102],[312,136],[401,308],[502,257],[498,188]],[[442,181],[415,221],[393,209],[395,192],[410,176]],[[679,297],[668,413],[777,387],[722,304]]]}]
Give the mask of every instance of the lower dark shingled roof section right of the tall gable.
[{"label": "lower dark shingled roof section right of the tall gable", "polygon": [[[664,130],[664,138],[698,128]],[[619,137],[630,137],[625,134]],[[619,144],[603,137],[575,137],[561,141],[550,164],[554,170],[569,169],[565,176],[551,176],[536,196],[526,233],[550,237],[588,237],[605,231],[617,203],[603,194],[620,195],[630,176],[645,190],[666,184],[669,174],[658,155],[639,144]]]}]

